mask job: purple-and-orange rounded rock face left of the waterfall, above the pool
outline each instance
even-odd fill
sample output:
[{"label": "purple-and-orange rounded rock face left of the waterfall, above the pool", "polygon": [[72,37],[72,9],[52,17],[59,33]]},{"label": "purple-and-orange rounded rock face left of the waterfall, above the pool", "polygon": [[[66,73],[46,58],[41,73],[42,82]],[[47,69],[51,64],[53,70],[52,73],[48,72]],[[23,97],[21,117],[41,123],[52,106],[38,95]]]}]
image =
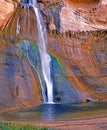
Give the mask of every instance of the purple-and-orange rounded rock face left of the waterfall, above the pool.
[{"label": "purple-and-orange rounded rock face left of the waterfall, above the pool", "polygon": [[36,79],[28,61],[18,55],[17,47],[10,43],[0,49],[0,110],[40,104],[41,92]]}]

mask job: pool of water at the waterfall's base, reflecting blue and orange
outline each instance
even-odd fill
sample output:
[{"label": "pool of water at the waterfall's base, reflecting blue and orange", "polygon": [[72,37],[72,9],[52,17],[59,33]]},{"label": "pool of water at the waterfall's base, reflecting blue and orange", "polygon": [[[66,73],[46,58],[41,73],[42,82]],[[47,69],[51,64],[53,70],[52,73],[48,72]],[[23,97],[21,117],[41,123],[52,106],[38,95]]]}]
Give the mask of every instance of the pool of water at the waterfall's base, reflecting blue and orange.
[{"label": "pool of water at the waterfall's base, reflecting blue and orange", "polygon": [[107,116],[107,103],[42,104],[38,107],[3,113],[6,121],[58,121]]}]

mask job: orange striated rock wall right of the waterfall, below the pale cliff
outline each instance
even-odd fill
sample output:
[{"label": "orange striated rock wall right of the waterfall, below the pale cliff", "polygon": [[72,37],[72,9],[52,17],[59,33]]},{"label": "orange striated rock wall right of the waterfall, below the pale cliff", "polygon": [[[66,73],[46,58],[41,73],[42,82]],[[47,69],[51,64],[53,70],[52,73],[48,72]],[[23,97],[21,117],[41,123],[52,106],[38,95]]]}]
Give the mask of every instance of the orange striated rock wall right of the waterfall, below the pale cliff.
[{"label": "orange striated rock wall right of the waterfall, below the pale cliff", "polygon": [[[49,50],[84,101],[107,101],[106,32],[49,34]],[[71,95],[72,97],[72,95]]]}]

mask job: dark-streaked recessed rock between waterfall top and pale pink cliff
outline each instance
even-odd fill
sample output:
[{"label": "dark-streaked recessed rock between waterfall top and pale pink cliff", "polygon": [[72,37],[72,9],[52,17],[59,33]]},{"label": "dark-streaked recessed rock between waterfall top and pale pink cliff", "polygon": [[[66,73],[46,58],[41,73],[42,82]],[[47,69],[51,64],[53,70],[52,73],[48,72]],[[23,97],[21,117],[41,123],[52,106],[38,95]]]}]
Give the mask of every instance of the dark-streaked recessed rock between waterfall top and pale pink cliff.
[{"label": "dark-streaked recessed rock between waterfall top and pale pink cliff", "polygon": [[60,12],[61,8],[64,6],[63,1],[54,1],[49,3],[39,4],[41,12],[43,13],[44,20],[47,25],[47,30],[56,30],[57,33],[60,32]]}]

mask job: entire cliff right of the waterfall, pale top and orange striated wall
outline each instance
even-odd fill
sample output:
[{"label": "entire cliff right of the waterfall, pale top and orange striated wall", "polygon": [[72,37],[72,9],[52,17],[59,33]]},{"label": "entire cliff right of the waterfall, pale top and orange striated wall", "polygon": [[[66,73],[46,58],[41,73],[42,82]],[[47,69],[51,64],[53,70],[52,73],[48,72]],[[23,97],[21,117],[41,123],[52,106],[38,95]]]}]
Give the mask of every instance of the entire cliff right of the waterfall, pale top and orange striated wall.
[{"label": "entire cliff right of the waterfall, pale top and orange striated wall", "polygon": [[[64,1],[44,14],[49,50],[59,57],[66,78],[82,101],[107,100],[106,1]],[[72,96],[72,95],[71,95]]]}]

